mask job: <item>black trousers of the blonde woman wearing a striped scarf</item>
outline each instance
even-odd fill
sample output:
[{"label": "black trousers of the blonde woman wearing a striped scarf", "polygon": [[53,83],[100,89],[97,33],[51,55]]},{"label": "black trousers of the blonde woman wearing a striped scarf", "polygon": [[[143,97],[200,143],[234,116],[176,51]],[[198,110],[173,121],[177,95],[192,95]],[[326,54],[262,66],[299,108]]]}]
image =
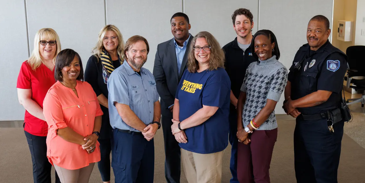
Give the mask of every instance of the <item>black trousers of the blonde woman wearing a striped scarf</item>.
[{"label": "black trousers of the blonde woman wearing a striped scarf", "polygon": [[110,152],[112,150],[111,139],[98,139],[100,143],[100,161],[97,162],[97,167],[103,182],[110,181]]}]

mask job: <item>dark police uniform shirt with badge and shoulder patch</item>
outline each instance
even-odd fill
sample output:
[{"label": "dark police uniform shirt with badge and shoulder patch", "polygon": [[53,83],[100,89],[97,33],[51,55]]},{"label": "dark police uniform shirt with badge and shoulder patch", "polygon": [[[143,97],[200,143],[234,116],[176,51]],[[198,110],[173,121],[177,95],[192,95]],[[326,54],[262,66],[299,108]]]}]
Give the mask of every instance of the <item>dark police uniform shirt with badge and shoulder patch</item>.
[{"label": "dark police uniform shirt with badge and shoulder patch", "polygon": [[[327,56],[326,56],[327,55]],[[295,71],[295,62],[301,61],[301,68]],[[291,82],[291,99],[296,100],[318,90],[331,91],[328,100],[313,107],[298,108],[305,115],[320,114],[338,106],[341,99],[343,77],[347,70],[347,57],[327,42],[318,50],[310,50],[308,44],[297,52],[288,74]]]}]

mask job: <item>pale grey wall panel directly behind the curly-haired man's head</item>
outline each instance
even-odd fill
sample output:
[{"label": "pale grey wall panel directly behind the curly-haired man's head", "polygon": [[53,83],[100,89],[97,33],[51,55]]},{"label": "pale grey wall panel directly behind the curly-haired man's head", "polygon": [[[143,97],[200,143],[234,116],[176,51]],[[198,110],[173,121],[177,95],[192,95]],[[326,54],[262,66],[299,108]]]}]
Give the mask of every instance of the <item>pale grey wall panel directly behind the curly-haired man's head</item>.
[{"label": "pale grey wall panel directly behind the curly-haired man's head", "polygon": [[238,8],[246,8],[253,14],[253,34],[258,25],[258,0],[207,1],[185,0],[184,12],[189,16],[191,33],[210,32],[220,43],[226,45],[237,37],[233,28],[232,14]]}]

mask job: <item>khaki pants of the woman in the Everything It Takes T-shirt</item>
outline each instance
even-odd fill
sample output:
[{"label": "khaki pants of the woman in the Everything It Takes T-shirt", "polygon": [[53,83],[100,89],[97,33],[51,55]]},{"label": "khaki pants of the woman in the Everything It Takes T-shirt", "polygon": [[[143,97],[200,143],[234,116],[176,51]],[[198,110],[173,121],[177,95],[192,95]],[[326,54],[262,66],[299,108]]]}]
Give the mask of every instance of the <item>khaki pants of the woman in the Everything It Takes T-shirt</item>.
[{"label": "khaki pants of the woman in the Everything It Takes T-shirt", "polygon": [[185,176],[189,183],[220,183],[223,151],[199,154],[181,149]]}]

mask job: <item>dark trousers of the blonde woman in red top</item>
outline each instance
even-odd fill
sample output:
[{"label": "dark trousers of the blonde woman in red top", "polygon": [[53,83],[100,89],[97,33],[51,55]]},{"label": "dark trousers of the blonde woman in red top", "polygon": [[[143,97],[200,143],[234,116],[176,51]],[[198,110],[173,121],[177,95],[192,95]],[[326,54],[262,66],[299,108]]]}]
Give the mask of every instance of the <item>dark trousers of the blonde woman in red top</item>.
[{"label": "dark trousers of the blonde woman in red top", "polygon": [[[30,154],[33,162],[33,180],[34,183],[51,183],[51,168],[47,158],[47,137],[35,136],[24,130],[27,137]],[[54,171],[56,176],[56,183],[59,181],[57,172]]]}]

